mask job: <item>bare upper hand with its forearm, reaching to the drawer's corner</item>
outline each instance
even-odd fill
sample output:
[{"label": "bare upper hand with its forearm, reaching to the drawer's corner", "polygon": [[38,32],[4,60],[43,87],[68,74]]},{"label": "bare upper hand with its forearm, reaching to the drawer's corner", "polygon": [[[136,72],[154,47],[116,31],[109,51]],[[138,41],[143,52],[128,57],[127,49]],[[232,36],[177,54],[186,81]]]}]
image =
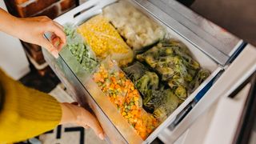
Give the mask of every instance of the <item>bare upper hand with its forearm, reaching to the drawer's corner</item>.
[{"label": "bare upper hand with its forearm, reaching to the drawer's corner", "polygon": [[[0,20],[0,31],[19,38],[24,42],[42,46],[50,54],[53,54],[55,58],[58,58],[58,52],[66,44],[66,34],[63,32],[63,27],[46,16],[16,18],[0,8]],[[53,43],[44,37],[46,32],[53,34],[53,41],[58,43],[58,46],[54,46]]]}]

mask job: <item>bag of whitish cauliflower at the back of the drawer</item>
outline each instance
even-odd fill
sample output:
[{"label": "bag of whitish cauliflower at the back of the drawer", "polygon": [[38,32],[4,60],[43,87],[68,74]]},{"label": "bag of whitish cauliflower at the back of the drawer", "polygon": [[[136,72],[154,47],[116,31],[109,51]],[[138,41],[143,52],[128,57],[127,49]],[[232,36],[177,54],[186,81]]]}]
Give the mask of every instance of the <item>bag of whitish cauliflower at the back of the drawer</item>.
[{"label": "bag of whitish cauliflower at the back of the drawer", "polygon": [[107,18],[126,39],[126,43],[134,50],[142,50],[158,42],[165,35],[162,26],[150,20],[128,2],[120,1],[107,6],[103,10]]}]

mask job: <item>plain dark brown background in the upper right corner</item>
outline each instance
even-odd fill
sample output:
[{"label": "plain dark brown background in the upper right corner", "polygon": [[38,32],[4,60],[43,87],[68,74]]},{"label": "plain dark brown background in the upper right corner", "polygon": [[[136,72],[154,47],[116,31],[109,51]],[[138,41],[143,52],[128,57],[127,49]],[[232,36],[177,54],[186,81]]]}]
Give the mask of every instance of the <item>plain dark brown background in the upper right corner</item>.
[{"label": "plain dark brown background in the upper right corner", "polygon": [[256,46],[256,0],[194,0],[190,9]]}]

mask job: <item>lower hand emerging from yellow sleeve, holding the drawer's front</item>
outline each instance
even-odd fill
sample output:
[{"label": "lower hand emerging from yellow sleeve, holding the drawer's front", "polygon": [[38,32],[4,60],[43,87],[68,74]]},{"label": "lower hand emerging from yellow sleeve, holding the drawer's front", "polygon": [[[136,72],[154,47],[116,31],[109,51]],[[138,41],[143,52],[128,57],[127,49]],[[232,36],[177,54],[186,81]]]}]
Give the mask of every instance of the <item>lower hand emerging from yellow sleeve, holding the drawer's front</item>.
[{"label": "lower hand emerging from yellow sleeve, holding the drawer's front", "polygon": [[62,106],[62,120],[60,124],[74,123],[78,126],[83,126],[84,128],[92,128],[95,134],[98,135],[102,140],[105,138],[102,127],[100,126],[98,120],[90,114],[89,111],[85,110],[80,106],[70,104],[67,102],[61,103]]}]

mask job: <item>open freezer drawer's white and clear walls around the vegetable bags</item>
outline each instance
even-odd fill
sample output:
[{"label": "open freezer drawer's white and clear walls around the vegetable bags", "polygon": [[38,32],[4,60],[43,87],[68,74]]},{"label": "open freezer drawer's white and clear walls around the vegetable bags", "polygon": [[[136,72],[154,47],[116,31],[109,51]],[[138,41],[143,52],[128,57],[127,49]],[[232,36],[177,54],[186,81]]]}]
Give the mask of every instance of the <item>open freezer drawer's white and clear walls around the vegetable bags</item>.
[{"label": "open freezer drawer's white and clear walls around the vegetable bags", "polygon": [[[74,10],[70,10],[66,14],[55,19],[56,22],[61,25],[66,23],[73,23],[79,25],[82,22],[86,22],[94,15],[101,14],[102,8],[116,2],[115,0],[90,0],[85,2],[81,6],[78,6]],[[210,70],[211,74],[192,94],[186,98],[184,102],[172,114],[166,118],[145,140],[142,140],[134,132],[132,126],[126,122],[122,115],[118,113],[118,110],[112,105],[108,98],[104,97],[102,90],[96,85],[96,83],[90,78],[90,74],[86,73],[79,65],[74,56],[68,49],[62,49],[60,57],[58,59],[52,58],[52,56],[43,50],[43,54],[46,61],[50,64],[54,72],[58,75],[61,81],[66,85],[66,88],[70,91],[72,97],[77,100],[82,106],[89,104],[94,114],[97,116],[99,122],[102,124],[102,128],[105,130],[110,142],[113,143],[149,143],[154,140],[167,126],[170,126],[173,122],[177,122],[177,118],[180,114],[184,113],[187,106],[190,106],[191,102],[198,101],[210,89],[213,85],[214,78],[223,70],[223,66],[229,61],[229,56],[223,54],[216,47],[211,46],[208,42],[199,37],[194,37],[194,32],[186,29],[180,23],[173,23],[170,20],[174,20],[170,15],[163,13],[157,6],[147,1],[127,0],[130,5],[141,10],[143,14],[146,14],[149,18],[158,22],[159,25],[166,29],[166,32],[171,38],[178,39],[184,43],[191,51],[192,56],[196,59],[200,66]],[[143,5],[142,3],[143,2]],[[146,7],[150,6],[150,7]],[[150,11],[151,10],[151,11]],[[155,12],[155,13],[154,13]],[[162,18],[159,18],[156,14],[162,14]],[[178,26],[178,27],[173,27]],[[184,35],[184,33],[186,33]],[[50,36],[46,36],[50,38]],[[193,41],[192,41],[193,40]],[[201,45],[204,43],[203,45]],[[239,46],[238,46],[239,47]],[[210,52],[210,51],[211,52]],[[219,56],[219,55],[223,55]],[[196,103],[194,103],[196,105]],[[182,119],[181,119],[182,120]],[[177,125],[175,125],[177,126]]]}]

